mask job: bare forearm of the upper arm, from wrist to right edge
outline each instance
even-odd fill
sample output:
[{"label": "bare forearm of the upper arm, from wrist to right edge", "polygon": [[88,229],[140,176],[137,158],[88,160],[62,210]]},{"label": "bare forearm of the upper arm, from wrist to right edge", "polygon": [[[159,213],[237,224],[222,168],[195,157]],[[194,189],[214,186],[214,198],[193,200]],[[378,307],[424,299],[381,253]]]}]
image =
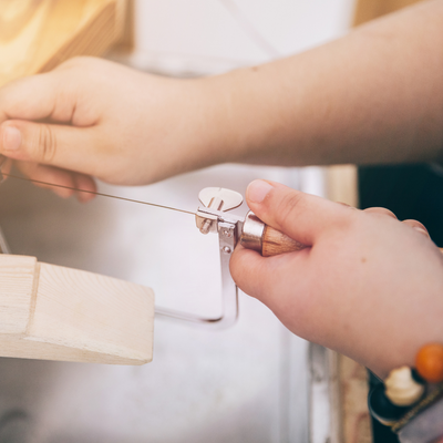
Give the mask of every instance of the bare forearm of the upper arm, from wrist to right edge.
[{"label": "bare forearm of the upper arm, from wrist to right edge", "polygon": [[213,155],[284,165],[439,159],[442,74],[443,2],[429,1],[302,54],[206,80],[219,131]]}]

